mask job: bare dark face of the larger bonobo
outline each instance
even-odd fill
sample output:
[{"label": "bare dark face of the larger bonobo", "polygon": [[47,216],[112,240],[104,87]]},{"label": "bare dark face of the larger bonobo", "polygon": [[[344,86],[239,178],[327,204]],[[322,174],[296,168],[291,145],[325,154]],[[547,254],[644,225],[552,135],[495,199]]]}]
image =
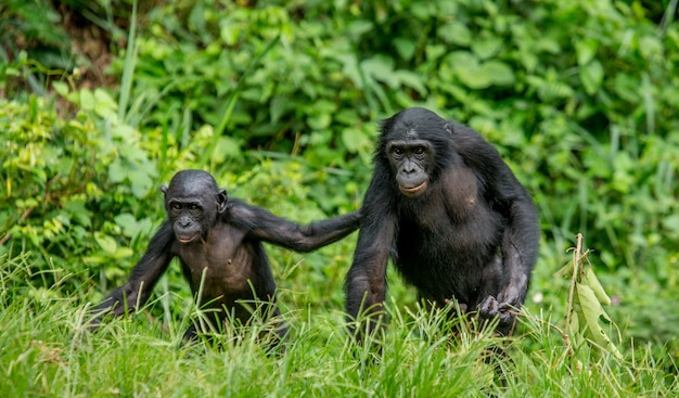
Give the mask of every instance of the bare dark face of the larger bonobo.
[{"label": "bare dark face of the larger bonobo", "polygon": [[432,144],[419,139],[392,140],[386,151],[400,192],[408,197],[426,192],[430,165],[434,163]]}]

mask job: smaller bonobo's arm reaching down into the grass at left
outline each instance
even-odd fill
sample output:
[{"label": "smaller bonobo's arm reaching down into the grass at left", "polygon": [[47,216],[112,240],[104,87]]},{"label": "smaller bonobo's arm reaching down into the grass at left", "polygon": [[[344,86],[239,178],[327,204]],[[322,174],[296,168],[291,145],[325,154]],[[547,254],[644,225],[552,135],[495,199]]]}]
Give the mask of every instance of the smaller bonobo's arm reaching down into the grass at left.
[{"label": "smaller bonobo's arm reaching down into the grass at left", "polygon": [[171,245],[175,242],[175,232],[169,221],[165,221],[149,243],[144,256],[137,262],[130,278],[123,286],[114,290],[95,308],[99,313],[90,322],[90,330],[99,328],[103,318],[119,317],[133,310],[137,305],[146,303],[163,272],[167,269],[174,255]]}]

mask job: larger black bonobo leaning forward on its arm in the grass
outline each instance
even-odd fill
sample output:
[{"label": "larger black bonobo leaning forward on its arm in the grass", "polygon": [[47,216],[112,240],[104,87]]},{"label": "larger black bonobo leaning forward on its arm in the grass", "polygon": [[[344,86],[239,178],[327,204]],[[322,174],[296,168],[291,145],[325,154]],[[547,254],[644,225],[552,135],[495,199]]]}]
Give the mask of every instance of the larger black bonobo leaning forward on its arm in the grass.
[{"label": "larger black bonobo leaning forward on its arm in the grass", "polygon": [[[539,245],[538,211],[496,149],[472,129],[413,107],[381,124],[346,310],[380,325],[390,257],[419,297],[499,318],[510,333]],[[351,328],[353,329],[353,328]],[[366,324],[351,330],[360,342]]]}]

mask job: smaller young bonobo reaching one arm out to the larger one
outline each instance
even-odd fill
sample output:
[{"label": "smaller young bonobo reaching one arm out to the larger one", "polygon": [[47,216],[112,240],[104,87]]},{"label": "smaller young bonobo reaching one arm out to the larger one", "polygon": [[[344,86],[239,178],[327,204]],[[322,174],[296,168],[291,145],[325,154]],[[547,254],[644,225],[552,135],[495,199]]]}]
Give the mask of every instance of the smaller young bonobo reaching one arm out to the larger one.
[{"label": "smaller young bonobo reaching one arm out to the larger one", "polygon": [[[214,311],[214,322],[208,320],[212,328],[223,322],[227,312],[245,324],[252,317],[247,306],[274,300],[276,283],[261,242],[310,252],[355,231],[360,220],[359,211],[354,211],[302,227],[260,207],[228,198],[213,176],[200,170],[179,171],[169,188],[163,187],[162,191],[168,219],[151,239],[127,283],[97,307],[100,316],[92,321],[92,330],[103,317],[121,316],[146,303],[174,257],[181,260],[196,303]],[[279,314],[276,307],[264,313]],[[286,331],[281,322],[276,334],[282,338]],[[184,341],[195,339],[196,333],[192,325]]]}]

